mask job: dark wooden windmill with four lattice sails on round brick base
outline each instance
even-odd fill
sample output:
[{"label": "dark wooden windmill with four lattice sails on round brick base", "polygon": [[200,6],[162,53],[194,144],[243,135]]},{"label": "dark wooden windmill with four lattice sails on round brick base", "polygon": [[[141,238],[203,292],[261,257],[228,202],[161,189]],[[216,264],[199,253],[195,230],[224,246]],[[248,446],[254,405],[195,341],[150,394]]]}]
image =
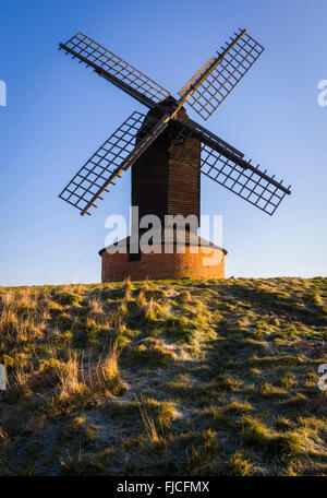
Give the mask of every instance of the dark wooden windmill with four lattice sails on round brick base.
[{"label": "dark wooden windmill with four lattice sails on round brick base", "polygon": [[[269,215],[291,193],[282,180],[254,166],[238,149],[190,119],[184,109],[187,104],[207,120],[250,70],[264,47],[246,29],[235,32],[180,90],[178,98],[82,33],[59,47],[149,109],[146,115],[134,111],[60,193],[82,215],[90,214],[89,210],[97,208],[96,202],[130,167],[132,205],[138,206],[140,218],[150,213],[160,221],[166,215],[179,214],[194,214],[199,220],[201,173]],[[186,236],[189,246],[198,241],[192,227]],[[156,254],[150,260],[147,254],[141,264],[140,251],[136,257],[129,251],[125,259],[119,260],[102,249],[102,281],[126,275],[223,276],[226,251],[211,242],[207,245],[221,253],[222,262],[216,273],[215,269],[213,273],[199,268],[191,254],[178,263],[175,258],[167,263],[167,258],[158,259]],[[132,261],[138,265],[126,264]]]}]

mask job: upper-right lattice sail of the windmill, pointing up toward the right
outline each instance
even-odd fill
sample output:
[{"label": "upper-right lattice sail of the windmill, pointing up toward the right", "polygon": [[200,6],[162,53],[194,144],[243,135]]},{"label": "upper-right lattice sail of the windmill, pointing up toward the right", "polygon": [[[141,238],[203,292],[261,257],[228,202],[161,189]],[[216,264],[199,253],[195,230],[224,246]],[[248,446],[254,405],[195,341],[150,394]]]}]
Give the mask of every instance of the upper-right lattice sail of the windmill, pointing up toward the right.
[{"label": "upper-right lattice sail of the windmill, pointing up toward the right", "polygon": [[205,120],[215,112],[264,51],[264,47],[249,36],[245,29],[239,29],[234,38],[230,39],[230,43],[221,47],[223,52],[222,57],[218,55],[216,58],[217,66],[187,99],[187,104]]}]

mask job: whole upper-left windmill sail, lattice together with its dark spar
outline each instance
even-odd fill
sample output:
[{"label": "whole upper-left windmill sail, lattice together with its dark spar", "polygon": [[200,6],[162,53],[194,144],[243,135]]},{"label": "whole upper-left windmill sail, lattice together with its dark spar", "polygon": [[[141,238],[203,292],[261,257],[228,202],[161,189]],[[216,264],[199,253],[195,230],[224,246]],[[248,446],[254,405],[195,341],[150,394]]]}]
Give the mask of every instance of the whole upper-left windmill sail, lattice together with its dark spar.
[{"label": "whole upper-left windmill sail, lattice together with its dark spar", "polygon": [[167,90],[138,69],[83,33],[77,33],[69,42],[59,46],[148,107],[154,107],[170,95]]}]

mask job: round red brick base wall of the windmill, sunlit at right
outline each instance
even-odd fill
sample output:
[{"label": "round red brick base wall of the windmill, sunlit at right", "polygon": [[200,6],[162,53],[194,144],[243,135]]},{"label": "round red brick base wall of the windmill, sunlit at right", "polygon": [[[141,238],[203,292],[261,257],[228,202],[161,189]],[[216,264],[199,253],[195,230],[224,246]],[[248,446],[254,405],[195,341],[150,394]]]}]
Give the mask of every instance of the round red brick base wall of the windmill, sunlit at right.
[{"label": "round red brick base wall of the windmill, sunlit at right", "polygon": [[[191,250],[194,248],[191,248]],[[204,248],[204,251],[208,248]],[[131,280],[162,280],[162,278],[225,278],[225,254],[221,250],[211,249],[210,257],[203,253],[190,253],[186,246],[185,253],[165,254],[141,254],[141,261],[129,261],[129,254],[109,254],[104,251],[102,258],[102,282],[120,282],[125,277]],[[204,264],[204,258],[214,261],[215,264]],[[215,258],[215,260],[213,259]]]}]

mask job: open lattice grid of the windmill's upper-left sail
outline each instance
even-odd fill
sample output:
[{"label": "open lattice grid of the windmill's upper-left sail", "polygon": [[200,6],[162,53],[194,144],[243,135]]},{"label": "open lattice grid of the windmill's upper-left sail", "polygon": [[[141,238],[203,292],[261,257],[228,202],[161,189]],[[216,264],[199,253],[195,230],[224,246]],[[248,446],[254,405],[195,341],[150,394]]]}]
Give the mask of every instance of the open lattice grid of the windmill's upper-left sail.
[{"label": "open lattice grid of the windmill's upper-left sail", "polygon": [[83,33],[77,33],[62,48],[69,49],[74,57],[86,59],[83,60],[85,63],[88,61],[93,67],[107,71],[155,103],[170,95],[164,86]]}]

